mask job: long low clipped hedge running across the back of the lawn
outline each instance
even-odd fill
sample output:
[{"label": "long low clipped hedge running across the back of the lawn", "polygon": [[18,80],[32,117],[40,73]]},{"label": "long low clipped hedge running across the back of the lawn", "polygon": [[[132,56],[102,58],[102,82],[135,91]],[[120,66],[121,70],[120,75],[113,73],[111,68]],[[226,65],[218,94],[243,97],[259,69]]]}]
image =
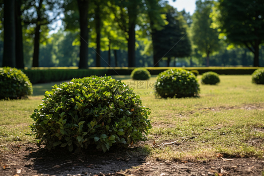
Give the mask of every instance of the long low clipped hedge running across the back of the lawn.
[{"label": "long low clipped hedge running across the back of the lawn", "polygon": [[[169,67],[146,67],[151,75],[158,75]],[[176,67],[174,67],[176,68]],[[199,74],[205,72],[216,72],[225,75],[251,75],[256,69],[261,67],[185,67],[186,70],[195,70]],[[89,69],[24,69],[22,70],[30,79],[32,84],[46,83],[61,80],[71,80],[73,78],[83,78],[87,76],[104,75],[130,75],[134,68],[89,68]],[[170,68],[173,69],[173,68]]]}]

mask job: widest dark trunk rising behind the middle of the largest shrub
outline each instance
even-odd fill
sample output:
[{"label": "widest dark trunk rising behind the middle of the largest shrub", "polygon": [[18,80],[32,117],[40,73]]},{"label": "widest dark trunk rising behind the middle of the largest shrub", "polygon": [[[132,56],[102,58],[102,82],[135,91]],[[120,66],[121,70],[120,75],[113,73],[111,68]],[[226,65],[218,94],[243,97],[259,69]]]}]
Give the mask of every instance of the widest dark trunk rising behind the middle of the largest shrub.
[{"label": "widest dark trunk rising behind the middle of the largest shrub", "polygon": [[88,68],[88,0],[77,0],[80,22],[80,62],[79,68]]}]

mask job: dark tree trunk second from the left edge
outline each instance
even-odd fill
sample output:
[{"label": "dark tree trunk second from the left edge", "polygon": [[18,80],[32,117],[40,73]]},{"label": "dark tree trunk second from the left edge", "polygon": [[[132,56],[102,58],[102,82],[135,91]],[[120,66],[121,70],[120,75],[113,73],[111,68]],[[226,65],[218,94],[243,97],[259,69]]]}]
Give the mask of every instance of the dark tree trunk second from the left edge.
[{"label": "dark tree trunk second from the left edge", "polygon": [[16,0],[16,68],[24,68],[23,37],[21,25],[21,1]]}]

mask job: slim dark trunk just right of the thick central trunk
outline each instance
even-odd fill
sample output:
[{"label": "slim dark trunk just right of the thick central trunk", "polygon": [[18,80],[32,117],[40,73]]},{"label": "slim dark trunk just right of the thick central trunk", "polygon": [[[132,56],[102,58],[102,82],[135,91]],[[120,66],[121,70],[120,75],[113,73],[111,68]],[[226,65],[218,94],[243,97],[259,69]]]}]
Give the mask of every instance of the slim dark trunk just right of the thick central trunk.
[{"label": "slim dark trunk just right of the thick central trunk", "polygon": [[101,38],[101,19],[100,19],[100,7],[99,4],[96,3],[96,9],[95,9],[95,32],[96,32],[96,67],[100,67],[100,52],[101,52],[101,44],[100,44],[100,38]]}]

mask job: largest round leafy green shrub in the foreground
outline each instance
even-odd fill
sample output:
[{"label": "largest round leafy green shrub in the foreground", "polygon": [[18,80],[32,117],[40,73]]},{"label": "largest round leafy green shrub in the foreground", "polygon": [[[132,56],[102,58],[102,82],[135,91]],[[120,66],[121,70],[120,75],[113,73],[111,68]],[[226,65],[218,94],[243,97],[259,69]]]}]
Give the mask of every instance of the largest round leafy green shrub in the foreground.
[{"label": "largest round leafy green shrub in the foreground", "polygon": [[109,150],[145,141],[152,128],[149,108],[121,80],[111,76],[73,79],[45,92],[43,103],[30,118],[32,134],[51,150],[68,147]]}]

